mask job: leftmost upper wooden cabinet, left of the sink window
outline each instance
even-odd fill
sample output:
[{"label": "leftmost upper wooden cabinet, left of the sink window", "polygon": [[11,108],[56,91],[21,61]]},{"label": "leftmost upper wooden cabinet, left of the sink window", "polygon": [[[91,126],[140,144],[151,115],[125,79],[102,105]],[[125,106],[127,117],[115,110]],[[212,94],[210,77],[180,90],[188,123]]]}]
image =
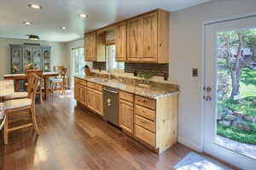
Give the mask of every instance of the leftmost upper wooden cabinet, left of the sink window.
[{"label": "leftmost upper wooden cabinet, left of the sink window", "polygon": [[85,35],[84,53],[85,61],[96,61],[96,32]]}]

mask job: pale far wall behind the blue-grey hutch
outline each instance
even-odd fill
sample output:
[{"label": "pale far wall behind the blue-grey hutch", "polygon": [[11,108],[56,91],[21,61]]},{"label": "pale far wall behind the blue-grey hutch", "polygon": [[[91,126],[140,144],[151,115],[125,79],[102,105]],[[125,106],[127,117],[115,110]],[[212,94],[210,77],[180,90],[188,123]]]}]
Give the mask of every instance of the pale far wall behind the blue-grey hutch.
[{"label": "pale far wall behind the blue-grey hutch", "polygon": [[24,42],[40,43],[41,45],[52,46],[52,49],[51,49],[51,67],[52,68],[54,65],[68,65],[67,54],[66,54],[67,47],[65,43],[0,38],[0,79],[3,79],[4,74],[10,73],[9,44],[23,44]]}]

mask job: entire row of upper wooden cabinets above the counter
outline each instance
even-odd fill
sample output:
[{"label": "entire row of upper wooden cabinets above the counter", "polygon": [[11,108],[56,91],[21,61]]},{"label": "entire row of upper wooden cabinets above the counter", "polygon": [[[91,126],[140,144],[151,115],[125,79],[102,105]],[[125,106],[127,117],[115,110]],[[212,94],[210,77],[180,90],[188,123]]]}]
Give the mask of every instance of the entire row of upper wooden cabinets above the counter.
[{"label": "entire row of upper wooden cabinets above the counter", "polygon": [[169,15],[156,9],[86,34],[85,60],[105,61],[106,35],[102,32],[114,31],[116,61],[169,63]]}]

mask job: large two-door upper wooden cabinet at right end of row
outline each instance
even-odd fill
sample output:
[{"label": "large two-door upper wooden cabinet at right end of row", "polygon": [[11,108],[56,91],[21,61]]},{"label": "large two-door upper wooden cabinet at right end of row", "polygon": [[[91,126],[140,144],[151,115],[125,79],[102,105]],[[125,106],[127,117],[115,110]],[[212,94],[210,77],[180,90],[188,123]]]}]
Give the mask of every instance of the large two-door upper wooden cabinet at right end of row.
[{"label": "large two-door upper wooden cabinet at right end of row", "polygon": [[157,10],[127,20],[128,62],[169,62],[169,13]]}]

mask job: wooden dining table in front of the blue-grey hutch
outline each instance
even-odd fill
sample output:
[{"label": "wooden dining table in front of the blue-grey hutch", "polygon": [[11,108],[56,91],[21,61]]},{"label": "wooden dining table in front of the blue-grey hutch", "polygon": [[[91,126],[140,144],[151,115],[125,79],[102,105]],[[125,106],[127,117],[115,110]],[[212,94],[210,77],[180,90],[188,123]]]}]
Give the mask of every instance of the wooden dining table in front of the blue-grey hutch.
[{"label": "wooden dining table in front of the blue-grey hutch", "polygon": [[[58,72],[43,72],[42,78],[44,79],[44,98],[49,98],[49,77],[59,76]],[[15,81],[15,92],[20,91],[20,81],[27,80],[26,74],[7,74],[3,75],[4,80],[13,80]]]}]

